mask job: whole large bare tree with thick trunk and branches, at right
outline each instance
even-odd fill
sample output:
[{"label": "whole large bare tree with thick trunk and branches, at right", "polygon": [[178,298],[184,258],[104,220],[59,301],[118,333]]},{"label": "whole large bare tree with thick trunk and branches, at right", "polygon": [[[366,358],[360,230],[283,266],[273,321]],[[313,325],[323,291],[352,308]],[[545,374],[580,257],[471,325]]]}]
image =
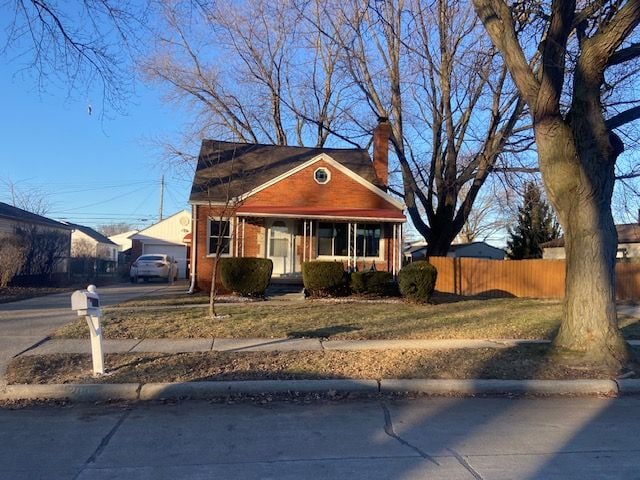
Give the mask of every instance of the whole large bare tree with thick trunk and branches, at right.
[{"label": "whole large bare tree with thick trunk and branches, at right", "polygon": [[[611,197],[624,150],[615,131],[640,117],[640,102],[627,91],[613,108],[605,104],[624,80],[637,82],[637,68],[620,68],[637,67],[640,2],[473,3],[529,108],[540,170],[565,234],[566,293],[554,345],[620,367],[629,357],[615,304]],[[533,67],[532,52],[540,52]]]}]

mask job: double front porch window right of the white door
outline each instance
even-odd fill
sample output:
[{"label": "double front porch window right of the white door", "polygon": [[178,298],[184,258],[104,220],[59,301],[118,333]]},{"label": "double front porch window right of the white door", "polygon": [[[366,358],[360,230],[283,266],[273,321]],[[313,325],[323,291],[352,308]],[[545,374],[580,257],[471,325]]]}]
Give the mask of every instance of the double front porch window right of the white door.
[{"label": "double front porch window right of the white door", "polygon": [[[328,222],[318,224],[318,255],[348,257],[351,225]],[[351,231],[353,232],[353,229]],[[376,223],[357,225],[355,238],[357,257],[380,256],[381,231],[381,226]]]}]

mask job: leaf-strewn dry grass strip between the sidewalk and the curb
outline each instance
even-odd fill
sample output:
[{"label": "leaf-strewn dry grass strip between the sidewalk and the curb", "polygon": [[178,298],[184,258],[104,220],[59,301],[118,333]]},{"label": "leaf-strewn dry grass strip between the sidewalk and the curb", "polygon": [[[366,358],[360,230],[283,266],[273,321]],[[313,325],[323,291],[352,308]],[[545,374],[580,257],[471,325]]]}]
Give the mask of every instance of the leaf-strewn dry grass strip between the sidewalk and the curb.
[{"label": "leaf-strewn dry grass strip between the sidewalk and the curb", "polygon": [[[634,350],[638,357],[639,352]],[[9,383],[147,383],[205,380],[321,378],[580,379],[611,378],[598,368],[574,368],[549,347],[358,352],[244,352],[107,355],[109,376],[93,378],[91,357],[80,354],[19,357]]]}]

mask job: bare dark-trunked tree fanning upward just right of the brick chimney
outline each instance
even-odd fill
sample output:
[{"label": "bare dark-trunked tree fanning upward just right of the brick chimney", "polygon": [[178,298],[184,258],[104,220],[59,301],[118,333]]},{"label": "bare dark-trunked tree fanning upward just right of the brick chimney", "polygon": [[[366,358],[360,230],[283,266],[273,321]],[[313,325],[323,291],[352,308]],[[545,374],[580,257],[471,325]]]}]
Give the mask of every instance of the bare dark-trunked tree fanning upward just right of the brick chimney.
[{"label": "bare dark-trunked tree fanning upward just right of the brick chimney", "polygon": [[396,192],[428,254],[446,255],[517,133],[524,103],[464,2],[324,5],[324,16],[341,22],[325,32],[340,46],[369,118],[389,117],[402,176]]}]

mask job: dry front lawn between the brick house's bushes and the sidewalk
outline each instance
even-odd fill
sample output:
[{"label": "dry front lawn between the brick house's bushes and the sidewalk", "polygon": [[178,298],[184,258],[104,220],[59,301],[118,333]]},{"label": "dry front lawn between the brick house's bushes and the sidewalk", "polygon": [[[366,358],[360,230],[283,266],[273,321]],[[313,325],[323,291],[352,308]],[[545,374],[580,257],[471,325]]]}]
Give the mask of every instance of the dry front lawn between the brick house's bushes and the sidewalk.
[{"label": "dry front lawn between the brick house's bushes and the sidewalk", "polygon": [[[222,320],[198,306],[107,309],[107,339],[127,338],[331,338],[331,339],[550,339],[561,305],[556,300],[497,298],[438,305],[367,302],[254,302],[219,305]],[[636,323],[630,327],[640,330]],[[54,334],[86,338],[84,318]]]}]

